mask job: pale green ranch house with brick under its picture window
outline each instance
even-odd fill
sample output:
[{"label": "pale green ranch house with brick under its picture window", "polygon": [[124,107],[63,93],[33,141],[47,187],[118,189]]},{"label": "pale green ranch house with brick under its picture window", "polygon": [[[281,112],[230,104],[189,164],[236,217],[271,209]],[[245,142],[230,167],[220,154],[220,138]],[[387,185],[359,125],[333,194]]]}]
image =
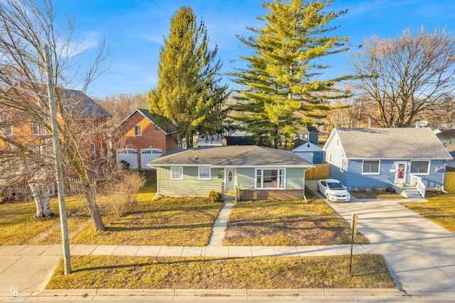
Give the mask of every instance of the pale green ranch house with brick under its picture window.
[{"label": "pale green ranch house with brick under its picture window", "polygon": [[240,200],[304,198],[305,170],[314,167],[291,151],[257,146],[172,151],[147,166],[156,169],[161,196],[218,191]]}]

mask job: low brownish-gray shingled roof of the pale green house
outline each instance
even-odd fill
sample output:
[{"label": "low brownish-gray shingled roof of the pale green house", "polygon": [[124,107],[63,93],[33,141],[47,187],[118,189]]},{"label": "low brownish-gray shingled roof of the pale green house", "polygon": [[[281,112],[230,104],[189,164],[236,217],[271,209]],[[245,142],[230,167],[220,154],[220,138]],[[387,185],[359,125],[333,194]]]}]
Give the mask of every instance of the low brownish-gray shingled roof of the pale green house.
[{"label": "low brownish-gray shingled roof of the pale green house", "polygon": [[291,151],[257,146],[198,147],[172,151],[147,166],[294,166],[313,167]]}]

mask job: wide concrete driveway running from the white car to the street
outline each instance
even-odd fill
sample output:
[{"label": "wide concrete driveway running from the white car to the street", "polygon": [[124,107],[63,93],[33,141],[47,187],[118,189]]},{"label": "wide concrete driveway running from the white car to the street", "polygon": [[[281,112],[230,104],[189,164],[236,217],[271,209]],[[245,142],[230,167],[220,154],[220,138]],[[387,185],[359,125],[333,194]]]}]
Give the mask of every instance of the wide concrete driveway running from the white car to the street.
[{"label": "wide concrete driveway running from the white car to the street", "polygon": [[384,257],[402,291],[455,292],[454,233],[400,205],[404,201],[328,204],[348,222],[353,213],[358,215],[358,231],[370,241],[363,248]]}]

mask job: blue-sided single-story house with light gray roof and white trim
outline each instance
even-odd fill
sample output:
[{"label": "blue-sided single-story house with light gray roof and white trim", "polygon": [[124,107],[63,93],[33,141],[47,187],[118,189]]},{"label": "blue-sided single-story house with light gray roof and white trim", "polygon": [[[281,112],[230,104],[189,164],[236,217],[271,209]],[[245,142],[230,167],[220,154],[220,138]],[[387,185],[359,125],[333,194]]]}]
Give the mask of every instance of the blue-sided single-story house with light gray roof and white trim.
[{"label": "blue-sided single-story house with light gray roof and white trim", "polygon": [[331,178],[348,188],[444,186],[453,159],[432,129],[336,128],[323,147]]}]

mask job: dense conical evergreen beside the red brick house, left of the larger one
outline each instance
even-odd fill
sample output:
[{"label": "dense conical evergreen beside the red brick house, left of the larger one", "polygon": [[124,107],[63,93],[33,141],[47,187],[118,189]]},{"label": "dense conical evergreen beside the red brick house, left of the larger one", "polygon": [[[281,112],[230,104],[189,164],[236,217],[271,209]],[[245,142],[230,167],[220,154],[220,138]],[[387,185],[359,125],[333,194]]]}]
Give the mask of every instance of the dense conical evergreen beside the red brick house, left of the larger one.
[{"label": "dense conical evergreen beside the red brick house, left of the larger one", "polygon": [[220,85],[218,46],[208,43],[203,21],[182,6],[160,50],[158,87],[149,92],[150,112],[175,124],[188,148],[196,132],[215,134],[225,115],[228,86]]}]

